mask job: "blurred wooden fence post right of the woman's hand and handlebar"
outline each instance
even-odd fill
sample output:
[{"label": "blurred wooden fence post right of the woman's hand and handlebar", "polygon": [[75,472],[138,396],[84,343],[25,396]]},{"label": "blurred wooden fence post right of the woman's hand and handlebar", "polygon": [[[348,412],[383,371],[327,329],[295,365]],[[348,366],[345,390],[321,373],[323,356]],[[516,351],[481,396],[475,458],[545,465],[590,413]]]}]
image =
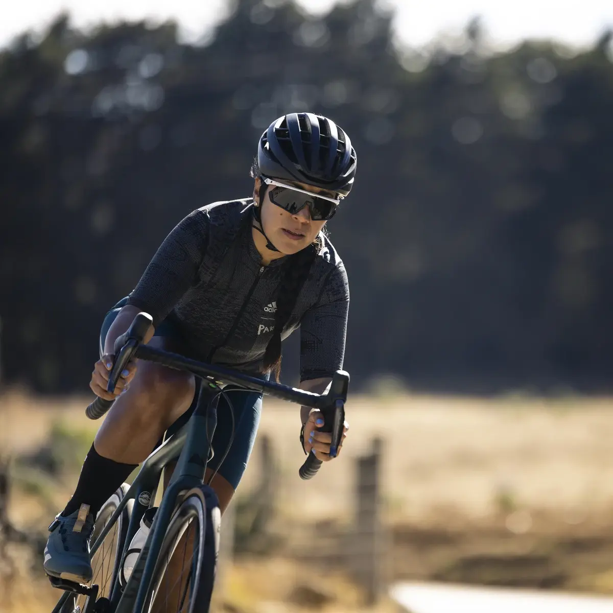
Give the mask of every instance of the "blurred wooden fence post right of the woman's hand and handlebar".
[{"label": "blurred wooden fence post right of the woman's hand and handlebar", "polygon": [[383,591],[383,534],[379,466],[382,441],[373,441],[372,452],[357,459],[356,521],[352,534],[351,568],[364,587],[366,604],[375,604]]}]

